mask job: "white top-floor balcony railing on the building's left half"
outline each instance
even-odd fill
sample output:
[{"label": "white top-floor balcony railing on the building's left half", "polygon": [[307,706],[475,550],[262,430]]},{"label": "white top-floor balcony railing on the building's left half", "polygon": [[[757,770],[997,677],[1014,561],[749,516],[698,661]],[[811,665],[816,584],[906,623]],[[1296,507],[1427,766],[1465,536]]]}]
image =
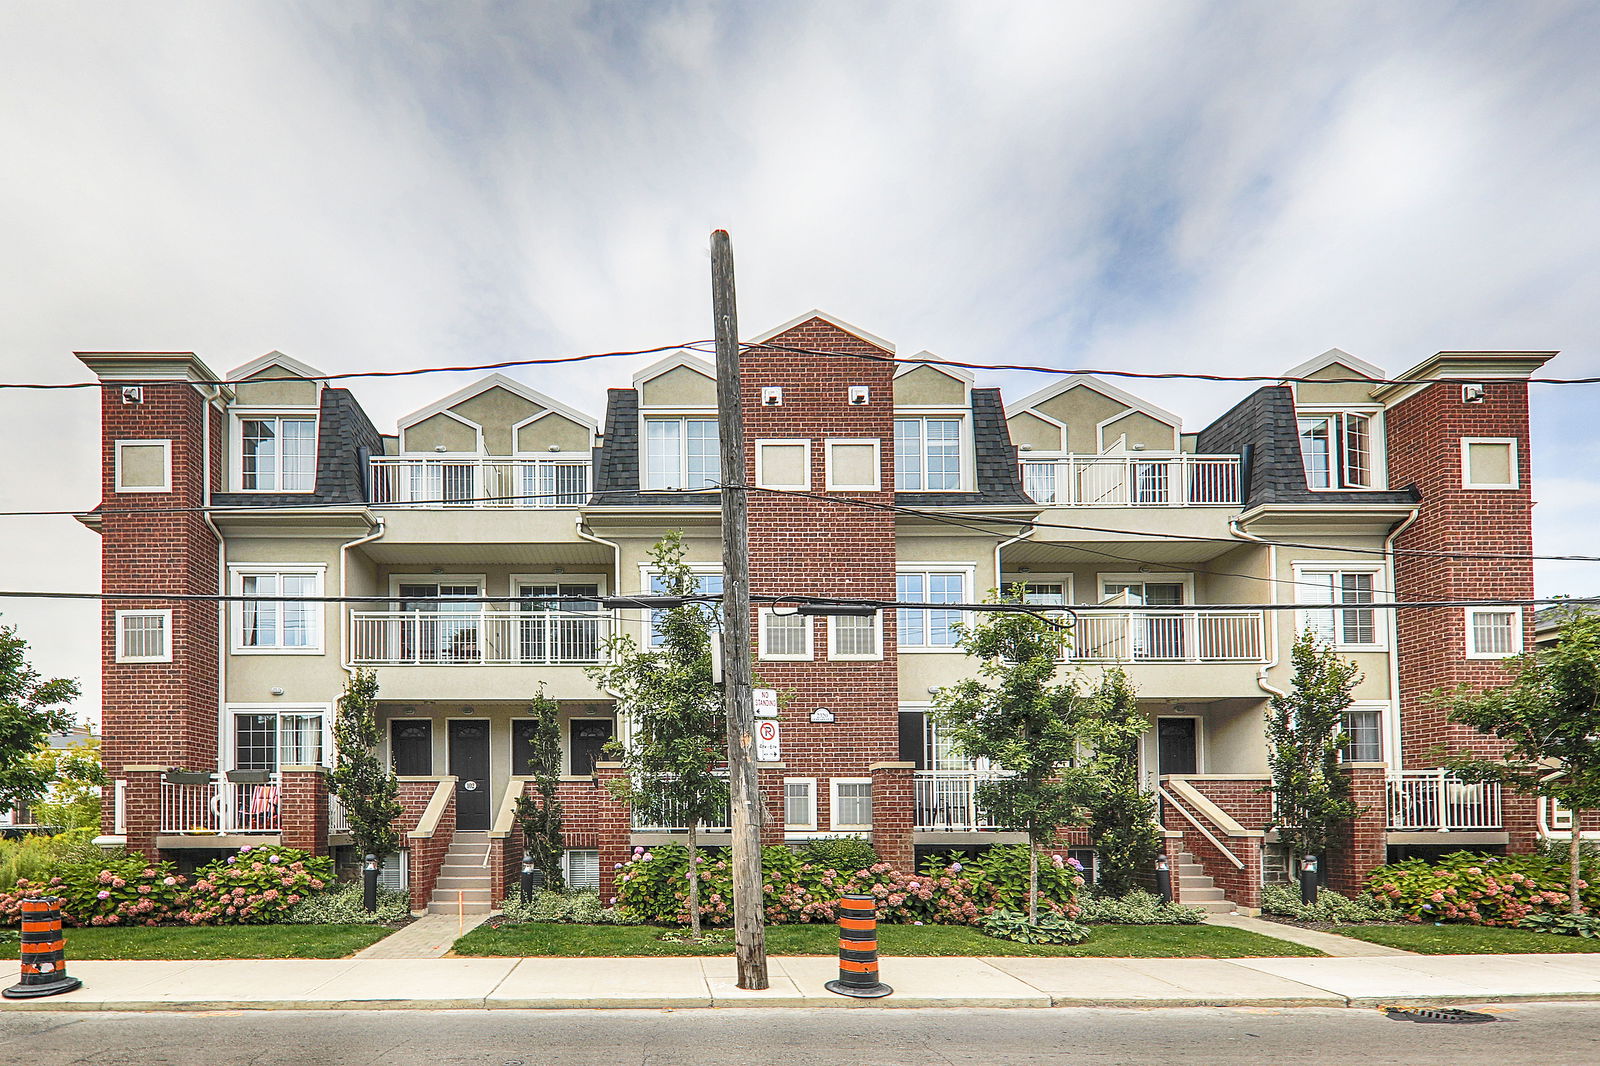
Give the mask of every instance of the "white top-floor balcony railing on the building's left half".
[{"label": "white top-floor balcony railing on the building's left half", "polygon": [[370,496],[384,507],[578,507],[589,499],[589,459],[381,456]]}]

